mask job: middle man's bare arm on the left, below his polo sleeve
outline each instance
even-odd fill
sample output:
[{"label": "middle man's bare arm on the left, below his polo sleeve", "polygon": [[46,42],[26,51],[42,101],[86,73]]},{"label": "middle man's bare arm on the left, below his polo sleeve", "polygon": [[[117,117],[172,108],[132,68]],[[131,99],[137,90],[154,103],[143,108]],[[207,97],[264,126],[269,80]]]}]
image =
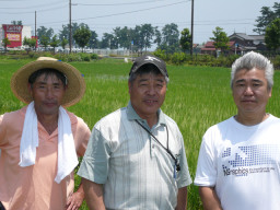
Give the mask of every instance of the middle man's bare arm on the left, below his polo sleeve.
[{"label": "middle man's bare arm on the left, below his polo sleeve", "polygon": [[103,200],[103,185],[82,178],[85,201],[90,210],[106,210]]}]

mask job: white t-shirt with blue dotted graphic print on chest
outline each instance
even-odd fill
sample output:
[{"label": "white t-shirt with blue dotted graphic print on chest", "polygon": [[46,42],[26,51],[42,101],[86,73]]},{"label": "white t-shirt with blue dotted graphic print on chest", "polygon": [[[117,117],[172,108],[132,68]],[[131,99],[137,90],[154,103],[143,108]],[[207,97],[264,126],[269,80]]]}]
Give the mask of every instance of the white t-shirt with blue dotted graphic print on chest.
[{"label": "white t-shirt with blue dotted graphic print on chest", "polygon": [[280,209],[280,119],[255,126],[234,117],[203,136],[195,185],[215,188],[223,210]]}]

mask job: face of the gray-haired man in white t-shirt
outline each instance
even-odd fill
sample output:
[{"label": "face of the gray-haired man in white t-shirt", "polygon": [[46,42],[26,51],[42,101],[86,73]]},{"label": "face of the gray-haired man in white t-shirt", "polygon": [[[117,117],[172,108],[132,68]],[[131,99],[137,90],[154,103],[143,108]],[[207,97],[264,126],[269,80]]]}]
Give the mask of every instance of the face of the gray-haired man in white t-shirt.
[{"label": "face of the gray-haired man in white t-shirt", "polygon": [[242,69],[235,73],[233,80],[233,98],[237,106],[238,114],[264,115],[266,105],[271,96],[268,89],[265,70]]}]

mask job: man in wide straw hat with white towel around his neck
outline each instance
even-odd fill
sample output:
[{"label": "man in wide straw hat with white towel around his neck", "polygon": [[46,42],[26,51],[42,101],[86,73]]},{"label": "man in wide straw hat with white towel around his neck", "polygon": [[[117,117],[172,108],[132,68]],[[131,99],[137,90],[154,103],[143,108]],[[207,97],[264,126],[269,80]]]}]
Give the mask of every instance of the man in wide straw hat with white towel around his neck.
[{"label": "man in wide straw hat with white towel around his neck", "polygon": [[11,210],[79,209],[73,170],[85,152],[90,129],[65,107],[78,103],[85,83],[72,66],[40,58],[11,79],[27,106],[0,116],[0,201]]}]

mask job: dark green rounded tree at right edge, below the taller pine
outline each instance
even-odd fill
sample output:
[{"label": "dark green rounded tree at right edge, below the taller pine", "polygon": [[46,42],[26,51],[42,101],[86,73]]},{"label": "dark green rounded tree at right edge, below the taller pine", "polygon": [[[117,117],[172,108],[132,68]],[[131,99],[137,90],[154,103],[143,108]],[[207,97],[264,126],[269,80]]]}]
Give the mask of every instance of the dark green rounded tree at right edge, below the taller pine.
[{"label": "dark green rounded tree at right edge, below the taller pine", "polygon": [[265,42],[268,49],[277,50],[280,47],[280,19],[276,19],[267,26]]}]

